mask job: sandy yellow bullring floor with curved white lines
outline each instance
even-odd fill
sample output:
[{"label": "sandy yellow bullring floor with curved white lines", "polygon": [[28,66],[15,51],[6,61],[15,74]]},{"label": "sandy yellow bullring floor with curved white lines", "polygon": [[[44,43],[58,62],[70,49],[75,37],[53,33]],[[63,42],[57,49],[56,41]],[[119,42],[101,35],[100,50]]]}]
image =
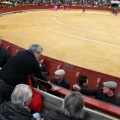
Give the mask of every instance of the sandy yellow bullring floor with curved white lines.
[{"label": "sandy yellow bullring floor with curved white lines", "polygon": [[43,55],[120,77],[120,15],[110,11],[51,9],[0,17],[0,37]]}]

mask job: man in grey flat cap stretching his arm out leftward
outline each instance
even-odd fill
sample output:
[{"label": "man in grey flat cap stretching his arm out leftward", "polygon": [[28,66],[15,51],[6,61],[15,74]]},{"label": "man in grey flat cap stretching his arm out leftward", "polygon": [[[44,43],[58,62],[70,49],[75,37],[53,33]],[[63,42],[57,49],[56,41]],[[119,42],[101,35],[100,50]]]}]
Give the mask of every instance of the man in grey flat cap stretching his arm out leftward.
[{"label": "man in grey flat cap stretching his arm out leftward", "polygon": [[104,82],[103,85],[104,85],[103,89],[81,88],[78,85],[73,85],[73,89],[80,91],[83,94],[95,96],[95,98],[98,100],[120,106],[120,101],[118,101],[117,97],[114,94],[114,91],[117,87],[117,83],[113,81],[108,81]]}]

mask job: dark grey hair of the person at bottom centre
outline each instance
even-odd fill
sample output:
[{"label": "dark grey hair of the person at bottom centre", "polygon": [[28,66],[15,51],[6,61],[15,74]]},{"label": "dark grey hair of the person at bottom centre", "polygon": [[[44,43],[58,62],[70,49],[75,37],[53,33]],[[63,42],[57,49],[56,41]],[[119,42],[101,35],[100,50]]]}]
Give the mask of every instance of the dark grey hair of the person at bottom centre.
[{"label": "dark grey hair of the person at bottom centre", "polygon": [[79,92],[66,95],[62,103],[61,112],[68,117],[81,118],[84,100]]}]

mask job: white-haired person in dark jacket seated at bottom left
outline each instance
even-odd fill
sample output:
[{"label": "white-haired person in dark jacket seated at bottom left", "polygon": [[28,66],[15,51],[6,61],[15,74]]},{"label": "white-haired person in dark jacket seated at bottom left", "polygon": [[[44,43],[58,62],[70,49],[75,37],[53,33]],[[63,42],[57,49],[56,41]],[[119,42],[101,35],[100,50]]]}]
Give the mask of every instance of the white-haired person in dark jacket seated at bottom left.
[{"label": "white-haired person in dark jacket seated at bottom left", "polygon": [[0,120],[41,120],[29,112],[32,91],[28,85],[19,84],[11,94],[11,101],[0,105]]}]

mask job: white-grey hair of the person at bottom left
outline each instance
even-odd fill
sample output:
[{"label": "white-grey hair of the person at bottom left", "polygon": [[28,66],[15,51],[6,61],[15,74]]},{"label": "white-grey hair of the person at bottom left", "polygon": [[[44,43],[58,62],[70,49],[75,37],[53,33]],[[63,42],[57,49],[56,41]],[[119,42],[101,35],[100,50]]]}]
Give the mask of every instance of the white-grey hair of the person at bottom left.
[{"label": "white-grey hair of the person at bottom left", "polygon": [[32,90],[28,85],[19,84],[14,88],[11,94],[11,102],[15,105],[27,108],[28,106],[25,106],[25,102],[32,96]]}]

